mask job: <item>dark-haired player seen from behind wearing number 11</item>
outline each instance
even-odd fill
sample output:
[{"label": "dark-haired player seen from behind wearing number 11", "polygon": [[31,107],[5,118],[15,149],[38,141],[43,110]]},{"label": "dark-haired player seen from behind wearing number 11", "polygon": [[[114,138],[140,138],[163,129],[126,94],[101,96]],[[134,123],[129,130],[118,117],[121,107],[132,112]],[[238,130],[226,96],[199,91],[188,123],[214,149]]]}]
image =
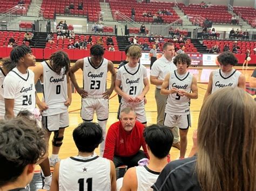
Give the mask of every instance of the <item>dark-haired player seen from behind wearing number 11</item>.
[{"label": "dark-haired player seen from behind wearing number 11", "polygon": [[103,141],[97,123],[82,123],[73,131],[78,155],[58,162],[51,190],[116,190],[116,169],[111,160],[94,155]]}]

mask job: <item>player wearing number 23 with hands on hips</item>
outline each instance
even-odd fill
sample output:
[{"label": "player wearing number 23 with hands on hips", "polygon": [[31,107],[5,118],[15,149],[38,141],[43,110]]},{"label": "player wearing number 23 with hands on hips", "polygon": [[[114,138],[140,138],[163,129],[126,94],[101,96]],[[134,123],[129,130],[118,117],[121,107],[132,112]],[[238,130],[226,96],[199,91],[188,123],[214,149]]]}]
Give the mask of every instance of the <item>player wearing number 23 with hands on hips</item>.
[{"label": "player wearing number 23 with hands on hips", "polygon": [[[106,123],[109,118],[109,96],[114,89],[116,70],[113,63],[103,58],[104,49],[100,45],[93,45],[90,49],[91,56],[76,61],[70,68],[70,79],[78,94],[82,97],[81,117],[84,122],[92,122],[96,111],[98,124],[103,128],[103,142],[100,144],[100,156],[105,147]],[[75,72],[83,70],[83,88],[78,86]],[[111,86],[106,89],[107,72],[111,73]]]}]

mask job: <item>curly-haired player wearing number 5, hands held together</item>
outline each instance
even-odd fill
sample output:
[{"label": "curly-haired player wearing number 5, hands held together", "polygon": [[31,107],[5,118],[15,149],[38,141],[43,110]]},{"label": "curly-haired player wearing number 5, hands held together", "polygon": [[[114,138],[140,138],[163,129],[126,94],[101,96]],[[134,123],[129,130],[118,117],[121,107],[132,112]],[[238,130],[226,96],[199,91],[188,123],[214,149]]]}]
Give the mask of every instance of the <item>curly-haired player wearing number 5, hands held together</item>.
[{"label": "curly-haired player wearing number 5, hands held together", "polygon": [[191,126],[190,99],[198,98],[197,79],[187,71],[187,67],[191,63],[187,54],[177,55],[173,63],[177,69],[165,76],[160,93],[168,95],[164,125],[169,128],[178,125],[180,133],[179,158],[183,159],[187,147],[188,127]]}]

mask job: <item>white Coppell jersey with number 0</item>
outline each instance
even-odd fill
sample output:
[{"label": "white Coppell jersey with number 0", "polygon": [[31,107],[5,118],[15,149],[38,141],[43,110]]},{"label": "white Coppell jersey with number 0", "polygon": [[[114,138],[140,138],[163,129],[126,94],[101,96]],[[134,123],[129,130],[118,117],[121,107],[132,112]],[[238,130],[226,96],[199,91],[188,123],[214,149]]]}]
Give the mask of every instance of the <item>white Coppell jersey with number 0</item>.
[{"label": "white Coppell jersey with number 0", "polygon": [[48,105],[48,109],[44,110],[42,115],[56,115],[66,112],[68,107],[64,104],[68,98],[68,85],[66,75],[62,75],[64,69],[60,75],[52,70],[47,62],[41,62],[43,66],[43,88],[44,98],[43,100]]}]

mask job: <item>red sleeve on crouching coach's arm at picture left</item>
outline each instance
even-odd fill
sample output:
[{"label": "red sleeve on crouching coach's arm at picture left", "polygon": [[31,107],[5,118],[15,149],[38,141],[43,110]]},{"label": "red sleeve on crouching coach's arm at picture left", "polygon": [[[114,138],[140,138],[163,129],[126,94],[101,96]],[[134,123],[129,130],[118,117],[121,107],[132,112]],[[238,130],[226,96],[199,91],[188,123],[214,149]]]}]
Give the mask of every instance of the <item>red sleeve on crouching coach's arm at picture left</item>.
[{"label": "red sleeve on crouching coach's arm at picture left", "polygon": [[[114,124],[113,124],[114,125]],[[110,126],[107,131],[105,149],[103,157],[113,161],[114,158],[114,148],[116,147],[116,133],[114,133],[113,125]]]}]

